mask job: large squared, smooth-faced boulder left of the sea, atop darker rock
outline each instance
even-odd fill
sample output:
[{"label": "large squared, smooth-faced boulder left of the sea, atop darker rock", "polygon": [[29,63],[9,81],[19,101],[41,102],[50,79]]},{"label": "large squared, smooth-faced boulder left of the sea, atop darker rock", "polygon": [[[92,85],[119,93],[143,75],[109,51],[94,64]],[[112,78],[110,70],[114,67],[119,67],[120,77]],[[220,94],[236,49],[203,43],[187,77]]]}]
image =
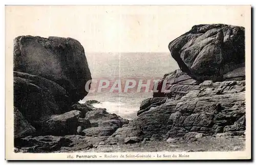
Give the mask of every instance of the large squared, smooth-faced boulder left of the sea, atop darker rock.
[{"label": "large squared, smooth-faced boulder left of the sea, atop darker rock", "polygon": [[63,87],[69,104],[83,99],[91,73],[82,45],[72,38],[19,36],[14,40],[14,71],[46,78]]}]

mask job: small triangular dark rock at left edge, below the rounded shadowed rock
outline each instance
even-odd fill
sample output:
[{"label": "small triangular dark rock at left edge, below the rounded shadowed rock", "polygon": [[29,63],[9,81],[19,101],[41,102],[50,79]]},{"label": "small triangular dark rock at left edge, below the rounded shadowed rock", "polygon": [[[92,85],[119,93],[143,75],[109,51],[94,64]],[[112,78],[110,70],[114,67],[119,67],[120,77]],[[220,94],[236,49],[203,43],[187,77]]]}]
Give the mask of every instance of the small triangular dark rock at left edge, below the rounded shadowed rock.
[{"label": "small triangular dark rock at left edge, below the rounded shadowed rock", "polygon": [[14,138],[33,135],[35,128],[24,118],[22,113],[14,107]]}]

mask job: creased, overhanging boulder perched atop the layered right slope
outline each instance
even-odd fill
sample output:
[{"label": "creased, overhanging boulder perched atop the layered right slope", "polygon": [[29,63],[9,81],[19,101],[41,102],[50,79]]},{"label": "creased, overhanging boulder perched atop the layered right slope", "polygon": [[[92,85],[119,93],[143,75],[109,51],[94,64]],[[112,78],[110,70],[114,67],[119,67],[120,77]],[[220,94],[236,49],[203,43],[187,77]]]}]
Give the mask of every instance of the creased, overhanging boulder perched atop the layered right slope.
[{"label": "creased, overhanging boulder perched atop the layered right slope", "polygon": [[[197,25],[169,43],[182,72],[196,80],[244,80],[244,28],[223,24]],[[238,69],[240,73],[232,72]],[[229,73],[228,75],[225,75]],[[225,76],[224,76],[225,75]]]}]

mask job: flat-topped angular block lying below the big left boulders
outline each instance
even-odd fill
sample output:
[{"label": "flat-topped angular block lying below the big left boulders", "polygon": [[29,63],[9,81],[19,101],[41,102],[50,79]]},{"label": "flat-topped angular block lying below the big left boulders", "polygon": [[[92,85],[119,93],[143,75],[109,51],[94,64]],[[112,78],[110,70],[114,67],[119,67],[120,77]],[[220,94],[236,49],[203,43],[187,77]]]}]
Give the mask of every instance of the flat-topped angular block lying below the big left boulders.
[{"label": "flat-topped angular block lying below the big left boulders", "polygon": [[42,117],[40,120],[41,135],[69,135],[76,134],[78,120],[81,112],[78,110],[69,111],[63,114],[55,114],[49,117]]}]

